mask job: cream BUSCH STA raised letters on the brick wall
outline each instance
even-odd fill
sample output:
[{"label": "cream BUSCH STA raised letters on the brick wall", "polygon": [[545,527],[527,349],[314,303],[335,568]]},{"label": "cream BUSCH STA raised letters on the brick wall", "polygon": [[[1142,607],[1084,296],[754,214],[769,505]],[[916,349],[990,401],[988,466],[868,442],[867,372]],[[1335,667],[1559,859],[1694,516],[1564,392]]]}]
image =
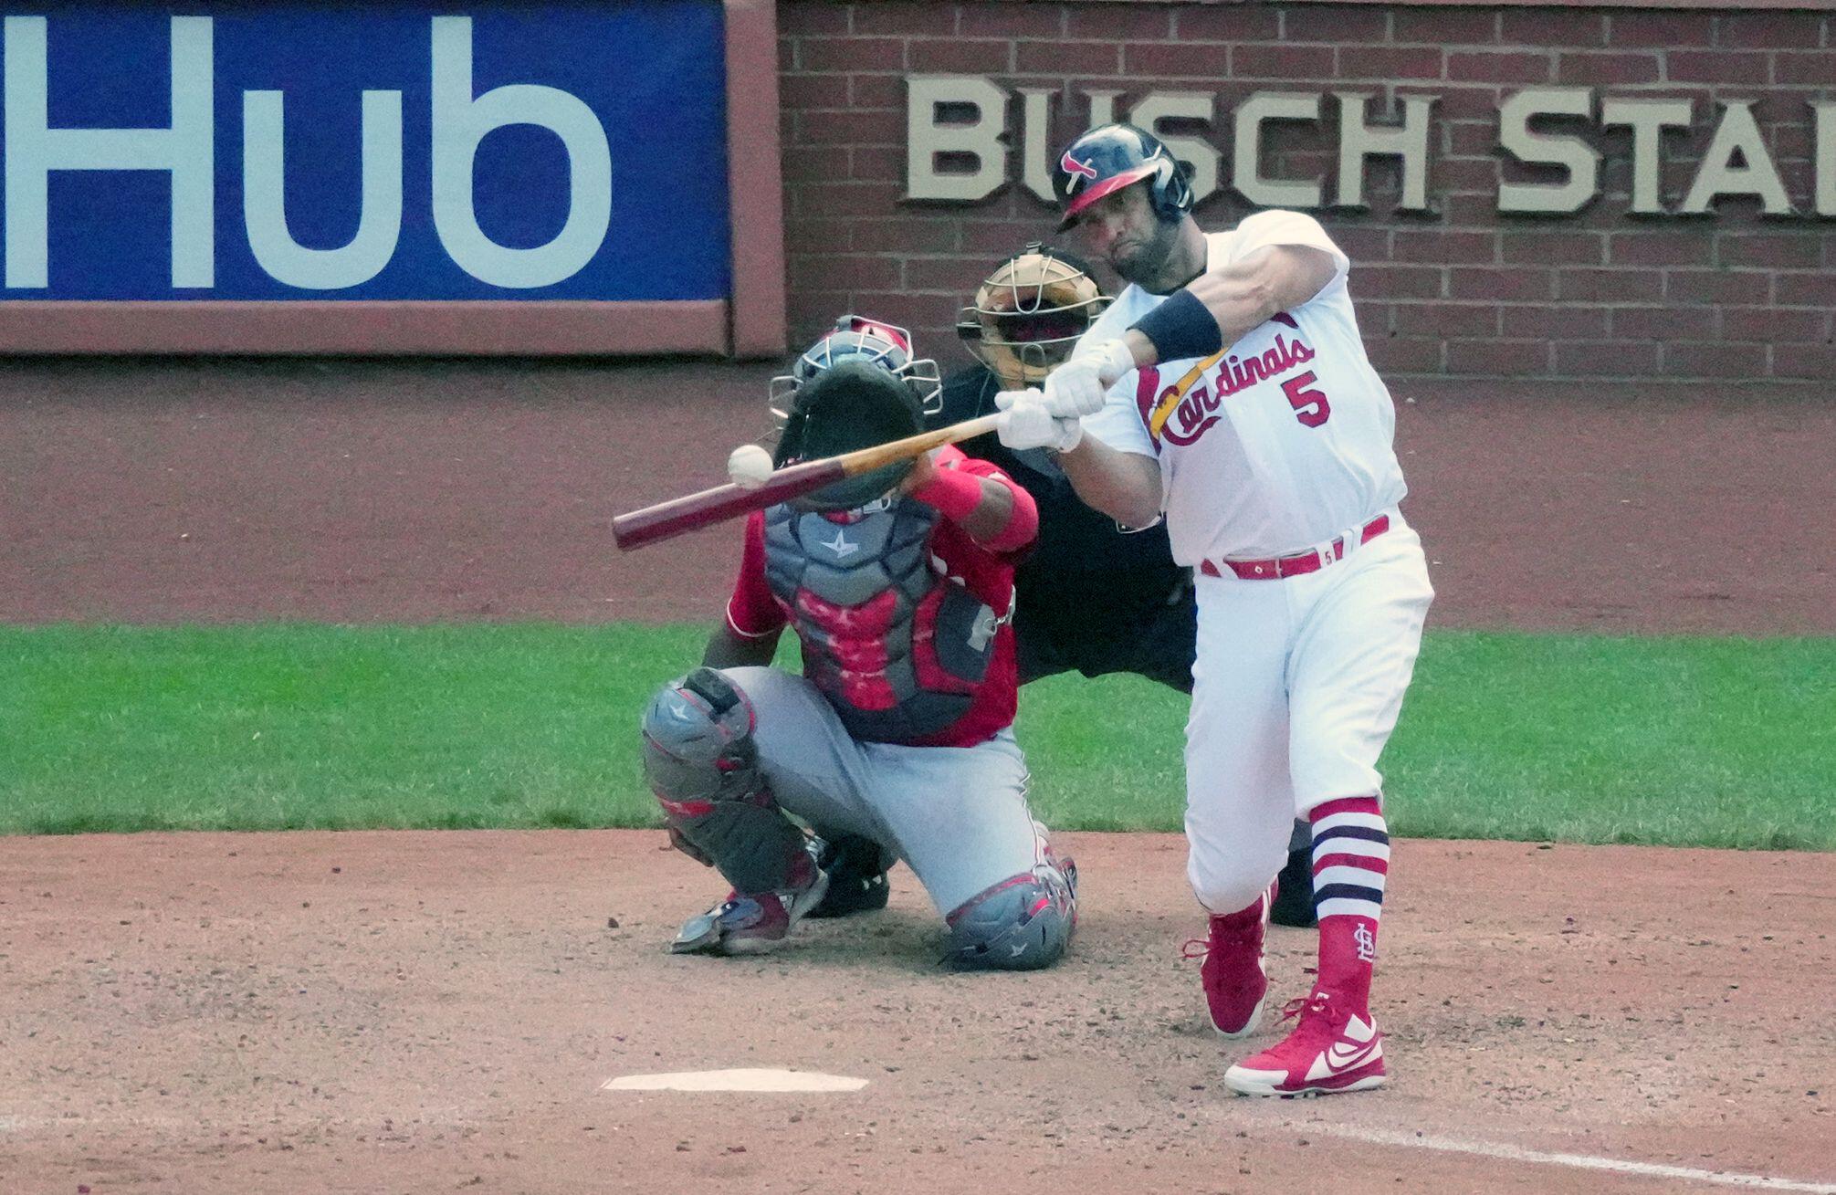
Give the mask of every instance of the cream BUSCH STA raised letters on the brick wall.
[{"label": "cream BUSCH STA raised letters on the brick wall", "polygon": [[[982,202],[1004,187],[1012,180],[1012,165],[1019,165],[1021,185],[1047,204],[1056,202],[1050,169],[1052,106],[1065,103],[1065,95],[1076,92],[1015,88],[991,75],[907,75],[905,198]],[[1124,92],[1103,83],[1083,90],[1087,117],[1081,105],[1070,106],[1081,127],[1103,125],[1122,119],[1122,95]],[[1192,171],[1192,193],[1201,204],[1228,185],[1261,207],[1364,211],[1371,206],[1368,167],[1373,160],[1390,160],[1401,182],[1395,209],[1432,211],[1432,151],[1445,136],[1445,119],[1434,114],[1436,103],[1436,95],[1417,94],[1377,105],[1370,88],[1362,86],[1331,94],[1322,88],[1283,86],[1243,97],[1181,86],[1138,92],[1127,106],[1127,119],[1159,134],[1173,156],[1186,163]],[[1590,86],[1531,86],[1513,92],[1498,105],[1496,149],[1507,158],[1542,167],[1542,173],[1566,176],[1559,182],[1500,178],[1498,211],[1583,211],[1608,191],[1603,160],[1623,156],[1629,145],[1629,215],[1695,218],[1715,215],[1724,198],[1757,198],[1766,217],[1836,218],[1836,99],[1805,99],[1796,112],[1786,112],[1786,103],[1797,106],[1797,101],[1783,95],[1766,101],[1779,110],[1777,123],[1768,128],[1757,116],[1757,99],[1717,99],[1704,105],[1687,95],[1649,95],[1643,90],[1619,94]],[[1015,114],[1017,127],[1010,127]],[[1581,130],[1535,128],[1544,117],[1566,117],[1570,125],[1579,123]],[[1337,158],[1331,196],[1320,169],[1265,173],[1283,143],[1291,145],[1289,130],[1296,125],[1313,125],[1315,136],[1327,138],[1326,158]],[[1797,141],[1805,136],[1812,141],[1808,149],[1792,152],[1808,154],[1816,165],[1796,173],[1801,187],[1796,200],[1786,187],[1786,174],[1774,160],[1786,141],[1781,138],[1775,143],[1768,136],[1772,128],[1790,127],[1797,127]],[[1630,130],[1629,141],[1621,130]],[[1665,195],[1674,140],[1691,132],[1707,134],[1709,143],[1700,152],[1685,154],[1685,160],[1695,162],[1687,191]],[[1228,154],[1221,145],[1228,147]],[[1059,160],[1059,165],[1081,173],[1081,163]]]}]

